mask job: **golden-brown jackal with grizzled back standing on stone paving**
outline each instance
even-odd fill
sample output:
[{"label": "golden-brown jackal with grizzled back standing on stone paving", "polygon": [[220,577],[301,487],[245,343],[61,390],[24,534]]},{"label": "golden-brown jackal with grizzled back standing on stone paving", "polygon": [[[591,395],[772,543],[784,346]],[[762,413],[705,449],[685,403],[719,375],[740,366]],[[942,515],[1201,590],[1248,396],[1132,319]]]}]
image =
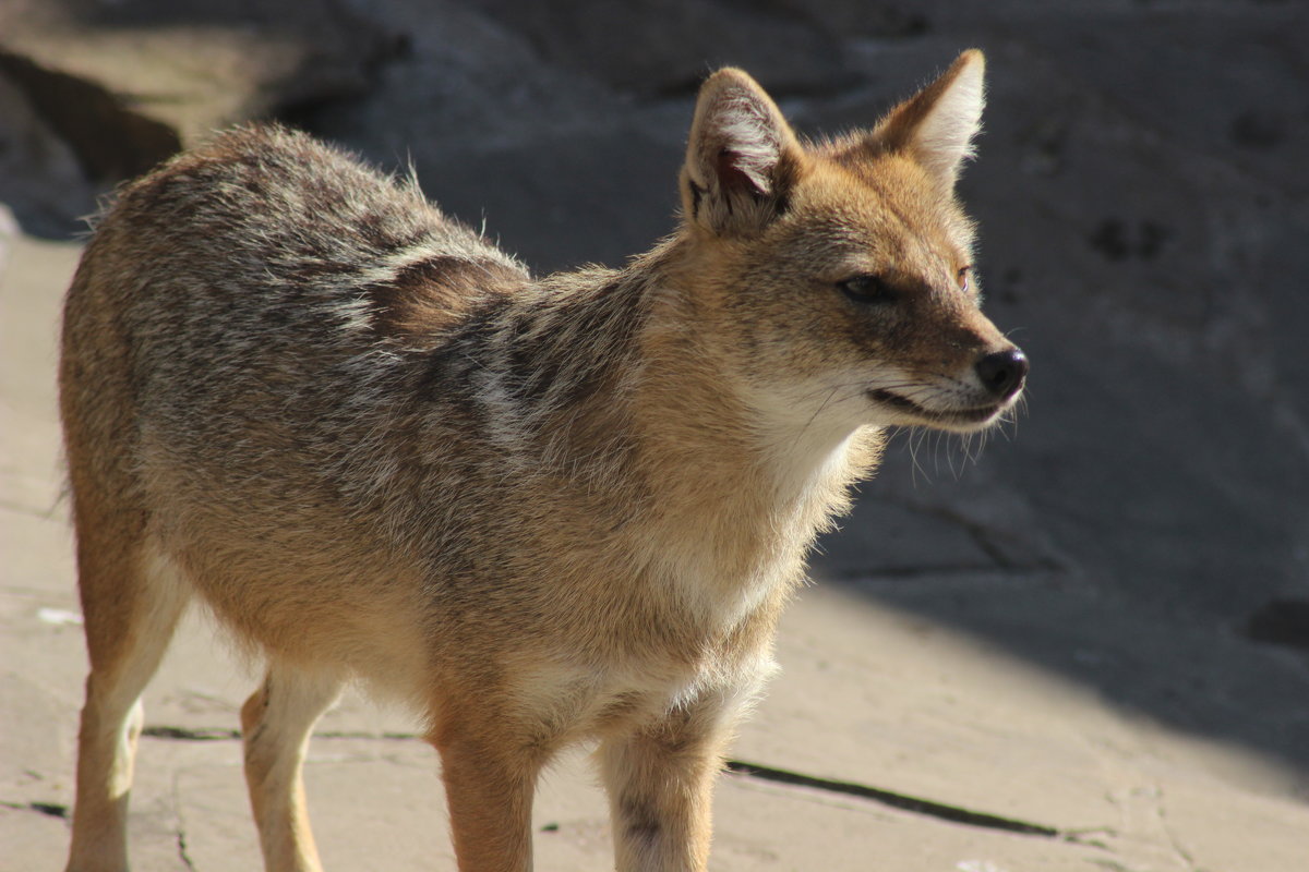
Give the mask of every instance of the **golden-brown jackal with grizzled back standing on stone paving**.
[{"label": "golden-brown jackal with grizzled back standing on stone paving", "polygon": [[246,127],[126,187],[68,292],[60,401],[90,675],[69,869],[127,865],[140,693],[196,595],[268,869],[318,869],[301,763],[344,682],[440,752],[459,868],[528,869],[588,741],[620,869],[703,869],[733,723],[817,531],[890,426],[967,431],[1028,365],[978,307],[954,182],[969,51],[802,144],[703,85],[673,235],[543,278],[412,180]]}]

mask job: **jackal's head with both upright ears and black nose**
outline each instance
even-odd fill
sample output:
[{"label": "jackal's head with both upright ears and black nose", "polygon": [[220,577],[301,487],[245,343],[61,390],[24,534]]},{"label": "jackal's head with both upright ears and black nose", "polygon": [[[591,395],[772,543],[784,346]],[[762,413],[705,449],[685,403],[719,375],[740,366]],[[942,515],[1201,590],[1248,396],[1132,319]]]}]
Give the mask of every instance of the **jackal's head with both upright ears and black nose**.
[{"label": "jackal's head with both upright ears and black nose", "polygon": [[744,72],[704,82],[683,238],[698,307],[757,408],[966,431],[1013,405],[1028,361],[979,309],[954,196],[982,72],[967,51],[870,131],[821,144]]}]

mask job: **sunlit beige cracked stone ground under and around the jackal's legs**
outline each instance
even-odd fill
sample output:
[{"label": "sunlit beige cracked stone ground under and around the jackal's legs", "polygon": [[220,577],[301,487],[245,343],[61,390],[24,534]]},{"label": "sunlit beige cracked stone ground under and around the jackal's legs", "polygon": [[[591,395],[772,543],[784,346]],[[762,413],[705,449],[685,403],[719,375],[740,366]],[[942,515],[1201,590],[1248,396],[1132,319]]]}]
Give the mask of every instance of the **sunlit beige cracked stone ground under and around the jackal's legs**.
[{"label": "sunlit beige cracked stone ground under and around the jackal's legs", "polygon": [[[0,869],[18,872],[60,867],[73,799],[85,654],[52,374],[79,250],[21,237],[8,248]],[[1034,582],[995,583],[1012,594]],[[721,777],[715,869],[1309,868],[1309,804],[1285,765],[1119,709],[994,642],[821,584],[788,613],[779,659],[783,672],[733,752],[737,769],[776,771]],[[137,871],[258,868],[234,735],[253,685],[211,628],[188,618],[147,693]],[[1189,692],[1185,676],[1177,685]],[[412,729],[403,713],[359,696],[319,724],[306,779],[329,869],[454,868],[436,756]],[[605,800],[584,756],[545,779],[535,821],[538,868],[611,868]]]}]

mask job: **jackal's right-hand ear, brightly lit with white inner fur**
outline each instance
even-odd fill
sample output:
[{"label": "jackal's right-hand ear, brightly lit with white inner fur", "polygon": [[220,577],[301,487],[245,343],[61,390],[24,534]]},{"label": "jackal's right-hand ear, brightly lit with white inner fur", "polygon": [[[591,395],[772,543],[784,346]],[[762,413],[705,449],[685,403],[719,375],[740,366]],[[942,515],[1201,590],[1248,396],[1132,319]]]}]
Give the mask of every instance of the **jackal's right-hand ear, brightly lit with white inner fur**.
[{"label": "jackal's right-hand ear, brightly lit with white inner fur", "polygon": [[965,51],[940,78],[893,109],[872,133],[878,150],[907,152],[953,187],[982,128],[986,59]]}]

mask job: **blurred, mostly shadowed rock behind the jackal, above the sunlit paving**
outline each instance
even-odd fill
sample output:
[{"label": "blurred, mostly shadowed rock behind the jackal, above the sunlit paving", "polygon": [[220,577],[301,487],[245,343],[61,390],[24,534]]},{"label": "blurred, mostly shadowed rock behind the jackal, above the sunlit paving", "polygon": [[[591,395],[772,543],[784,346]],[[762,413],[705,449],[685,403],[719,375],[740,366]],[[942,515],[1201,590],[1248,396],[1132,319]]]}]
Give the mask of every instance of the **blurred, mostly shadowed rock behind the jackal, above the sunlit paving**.
[{"label": "blurred, mostly shadowed rock behind the jackal, above the sunlit paving", "polygon": [[992,319],[1033,363],[982,439],[901,434],[813,561],[1309,799],[1309,4],[0,0],[0,203],[45,238],[246,119],[385,169],[539,271],[668,233],[694,94],[872,124],[967,47]]}]

